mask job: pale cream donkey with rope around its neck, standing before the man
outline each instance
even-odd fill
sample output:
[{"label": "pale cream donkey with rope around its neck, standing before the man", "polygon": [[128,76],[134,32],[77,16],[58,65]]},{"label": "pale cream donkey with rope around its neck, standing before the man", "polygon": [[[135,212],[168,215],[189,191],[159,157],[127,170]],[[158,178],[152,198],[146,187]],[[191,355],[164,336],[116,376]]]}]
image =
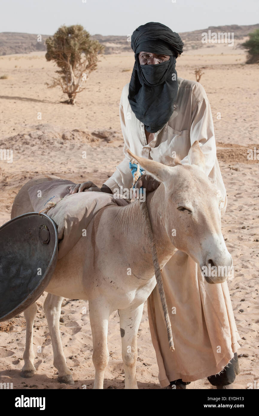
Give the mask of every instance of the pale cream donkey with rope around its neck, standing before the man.
[{"label": "pale cream donkey with rope around its neck, standing before the man", "polygon": [[[232,258],[221,233],[220,197],[202,171],[204,155],[198,142],[189,151],[190,165],[182,165],[176,159],[175,166],[169,167],[133,154],[131,156],[161,182],[157,190],[146,198],[160,267],[163,268],[177,249],[187,253],[200,267],[208,267],[209,264],[232,267]],[[35,179],[32,179],[22,189],[26,190],[34,184]],[[22,203],[19,197],[21,191],[15,198],[12,218],[32,210],[29,197],[28,203]],[[18,205],[19,208],[15,208]],[[175,236],[172,236],[172,229],[176,230]],[[125,389],[137,389],[138,327],[143,303],[156,284],[150,245],[138,201],[125,207],[107,206],[100,210],[91,220],[87,235],[89,238],[80,238],[72,250],[57,262],[46,288],[48,295],[44,311],[52,341],[54,366],[59,373],[58,380],[74,384],[59,332],[62,300],[68,297],[89,300],[94,389],[103,389],[104,370],[109,361],[108,320],[115,310],[120,315]],[[131,275],[127,273],[128,268],[131,269]],[[221,283],[224,280],[226,277],[207,278],[209,283]],[[32,331],[36,312],[36,303],[24,312],[24,377],[32,377],[35,372]]]}]

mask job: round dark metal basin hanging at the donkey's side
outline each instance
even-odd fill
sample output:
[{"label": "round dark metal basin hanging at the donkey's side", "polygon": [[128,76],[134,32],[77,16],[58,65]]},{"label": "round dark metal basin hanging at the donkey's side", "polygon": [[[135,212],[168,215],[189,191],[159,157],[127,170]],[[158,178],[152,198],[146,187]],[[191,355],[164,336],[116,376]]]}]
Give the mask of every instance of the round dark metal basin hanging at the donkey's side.
[{"label": "round dark metal basin hanging at the donkey's side", "polygon": [[0,227],[0,322],[42,295],[57,263],[57,244],[57,226],[45,214],[23,214]]}]

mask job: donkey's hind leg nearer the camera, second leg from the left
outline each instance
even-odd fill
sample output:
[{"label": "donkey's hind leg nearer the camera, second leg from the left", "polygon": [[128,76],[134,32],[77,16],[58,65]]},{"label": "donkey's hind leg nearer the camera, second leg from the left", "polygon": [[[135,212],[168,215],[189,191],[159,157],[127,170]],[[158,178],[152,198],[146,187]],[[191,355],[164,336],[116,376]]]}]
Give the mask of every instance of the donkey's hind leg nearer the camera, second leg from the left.
[{"label": "donkey's hind leg nearer the camera, second leg from the left", "polygon": [[64,297],[51,295],[48,293],[43,306],[52,342],[54,358],[53,364],[59,372],[57,379],[60,383],[74,384],[72,371],[69,370],[66,364],[66,357],[63,352],[59,331],[59,318],[63,299]]}]

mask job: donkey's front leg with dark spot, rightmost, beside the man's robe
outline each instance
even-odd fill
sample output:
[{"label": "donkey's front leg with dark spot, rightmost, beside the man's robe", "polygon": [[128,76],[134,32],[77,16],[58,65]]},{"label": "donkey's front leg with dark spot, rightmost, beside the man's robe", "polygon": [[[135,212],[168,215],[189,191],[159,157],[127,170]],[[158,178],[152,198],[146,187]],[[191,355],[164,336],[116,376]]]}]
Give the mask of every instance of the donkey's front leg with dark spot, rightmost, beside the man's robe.
[{"label": "donkey's front leg with dark spot, rightmost, beside the man's robe", "polygon": [[136,361],[138,358],[137,336],[142,312],[143,304],[134,310],[119,310],[125,389],[138,389],[136,379]]}]

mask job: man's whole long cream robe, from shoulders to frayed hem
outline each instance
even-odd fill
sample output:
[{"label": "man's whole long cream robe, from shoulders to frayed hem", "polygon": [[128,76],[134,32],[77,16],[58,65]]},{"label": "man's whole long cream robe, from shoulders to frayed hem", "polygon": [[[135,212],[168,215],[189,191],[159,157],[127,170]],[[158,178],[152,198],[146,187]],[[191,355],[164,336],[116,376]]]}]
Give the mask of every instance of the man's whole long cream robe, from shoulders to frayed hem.
[{"label": "man's whole long cream robe, from shoulders to frayed hem", "polygon": [[[105,184],[113,192],[118,186],[131,188],[132,174],[126,149],[137,156],[170,165],[173,155],[188,163],[187,154],[198,140],[205,155],[205,173],[220,190],[226,210],[227,196],[216,156],[216,143],[210,103],[198,82],[178,78],[178,94],[173,115],[147,144],[144,125],[136,119],[128,102],[128,84],[120,102],[121,129],[124,137],[124,160]],[[174,153],[175,152],[175,153]],[[150,332],[155,348],[159,381],[195,381],[220,372],[233,358],[240,339],[234,321],[227,282],[210,285],[197,264],[177,251],[162,272],[165,296],[170,313],[175,351],[168,347],[167,333],[157,287],[148,298]],[[172,314],[172,308],[176,313]],[[173,310],[175,311],[175,310]]]}]

